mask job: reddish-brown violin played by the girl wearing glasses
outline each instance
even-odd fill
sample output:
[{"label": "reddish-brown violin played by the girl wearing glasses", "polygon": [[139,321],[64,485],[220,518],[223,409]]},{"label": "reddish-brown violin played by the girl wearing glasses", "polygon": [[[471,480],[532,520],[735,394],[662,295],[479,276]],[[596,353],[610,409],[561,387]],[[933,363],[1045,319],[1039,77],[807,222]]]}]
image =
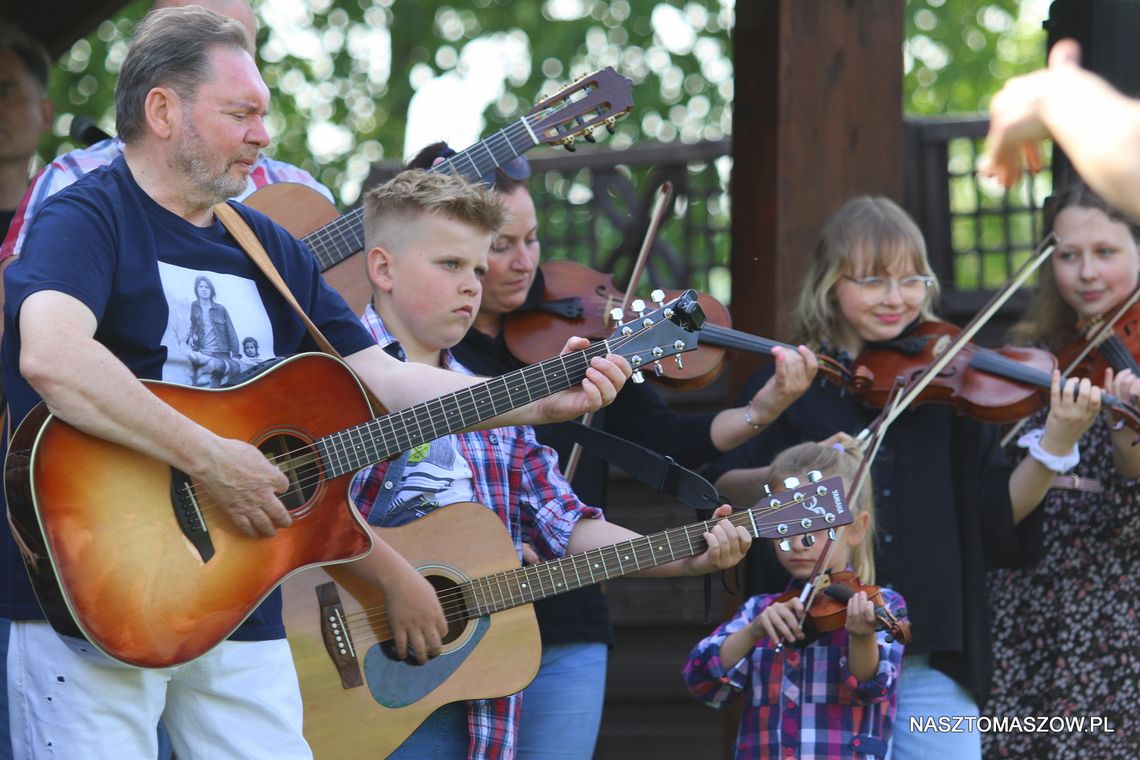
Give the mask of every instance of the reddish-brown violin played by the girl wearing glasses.
[{"label": "reddish-brown violin played by the girl wearing glasses", "polygon": [[[852,365],[853,392],[882,407],[896,378],[910,381],[923,373],[959,333],[953,325],[926,321],[893,341],[869,346]],[[1057,358],[1041,349],[985,349],[969,343],[913,403],[950,403],[959,414],[980,422],[1015,423],[1049,403],[1056,367]],[[1102,393],[1101,402],[1140,430],[1140,410],[1110,393]]]}]

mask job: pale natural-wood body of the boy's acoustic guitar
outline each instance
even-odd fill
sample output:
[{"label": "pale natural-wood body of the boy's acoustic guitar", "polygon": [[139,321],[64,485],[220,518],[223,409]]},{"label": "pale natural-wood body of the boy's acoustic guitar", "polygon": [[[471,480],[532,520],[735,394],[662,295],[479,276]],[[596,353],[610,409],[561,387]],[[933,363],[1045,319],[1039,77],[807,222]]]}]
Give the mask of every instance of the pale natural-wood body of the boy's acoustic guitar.
[{"label": "pale natural-wood body of the boy's acoustic guitar", "polygon": [[[519,567],[499,517],[478,504],[457,504],[407,525],[375,529],[446,596],[456,583]],[[327,570],[327,572],[326,572]],[[336,588],[320,585],[335,579]],[[435,709],[450,702],[514,694],[538,672],[542,645],[530,604],[453,624],[442,654],[425,664],[400,662],[377,639],[384,597],[343,566],[308,570],[284,585],[285,630],[304,700],[304,736],[318,760],[383,758]],[[331,654],[326,621],[339,608],[353,622],[355,656]],[[455,602],[445,603],[445,611]],[[361,613],[368,611],[365,624]],[[327,645],[326,645],[327,644]]]}]

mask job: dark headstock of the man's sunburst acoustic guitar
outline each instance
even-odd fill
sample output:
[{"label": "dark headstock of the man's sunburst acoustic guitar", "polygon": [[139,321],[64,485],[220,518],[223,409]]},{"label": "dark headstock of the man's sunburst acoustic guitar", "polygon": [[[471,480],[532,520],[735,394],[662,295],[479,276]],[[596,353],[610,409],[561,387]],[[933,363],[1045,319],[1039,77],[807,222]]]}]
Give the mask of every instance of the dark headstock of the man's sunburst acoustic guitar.
[{"label": "dark headstock of the man's sunburst acoustic guitar", "polygon": [[621,324],[620,309],[614,309],[617,329],[610,335],[612,353],[621,354],[634,368],[633,381],[641,383],[641,370],[652,367],[663,371],[661,359],[697,350],[697,338],[705,327],[705,312],[695,291],[685,291],[671,301],[660,302],[651,312],[643,312]]}]

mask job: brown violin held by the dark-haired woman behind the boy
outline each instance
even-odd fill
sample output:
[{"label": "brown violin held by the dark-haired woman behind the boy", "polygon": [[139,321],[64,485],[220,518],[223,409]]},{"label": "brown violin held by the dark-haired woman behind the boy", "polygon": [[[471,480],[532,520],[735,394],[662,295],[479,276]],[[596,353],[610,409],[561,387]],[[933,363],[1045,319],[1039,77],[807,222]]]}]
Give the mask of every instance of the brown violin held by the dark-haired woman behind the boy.
[{"label": "brown violin held by the dark-haired woman behind the boy", "polygon": [[[549,261],[542,265],[543,301],[536,307],[514,311],[503,320],[503,337],[515,359],[535,363],[556,354],[567,340],[578,335],[601,340],[613,332],[613,309],[625,299],[613,278],[572,261]],[[666,299],[673,297],[668,291]],[[662,362],[660,375],[650,375],[676,389],[699,389],[708,385],[724,368],[726,349],[771,356],[772,349],[795,351],[787,343],[769,341],[732,329],[732,318],[723,303],[706,293],[698,294],[705,311],[705,327],[697,350],[678,362]],[[625,314],[622,321],[634,319]],[[820,369],[833,382],[845,383],[847,370],[833,359],[820,357]]]}]

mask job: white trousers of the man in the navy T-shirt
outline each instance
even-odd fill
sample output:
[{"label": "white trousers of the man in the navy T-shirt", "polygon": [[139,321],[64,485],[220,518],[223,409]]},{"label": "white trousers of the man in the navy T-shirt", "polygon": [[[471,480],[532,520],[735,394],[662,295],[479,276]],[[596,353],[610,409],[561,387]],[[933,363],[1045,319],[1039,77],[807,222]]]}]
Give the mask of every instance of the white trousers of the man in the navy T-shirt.
[{"label": "white trousers of the man in the navy T-shirt", "polygon": [[179,760],[311,760],[284,639],[223,641],[182,665],[124,665],[41,621],[13,621],[15,760],[149,760],[162,718]]}]

